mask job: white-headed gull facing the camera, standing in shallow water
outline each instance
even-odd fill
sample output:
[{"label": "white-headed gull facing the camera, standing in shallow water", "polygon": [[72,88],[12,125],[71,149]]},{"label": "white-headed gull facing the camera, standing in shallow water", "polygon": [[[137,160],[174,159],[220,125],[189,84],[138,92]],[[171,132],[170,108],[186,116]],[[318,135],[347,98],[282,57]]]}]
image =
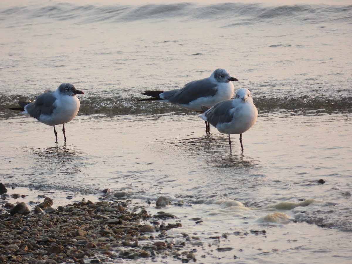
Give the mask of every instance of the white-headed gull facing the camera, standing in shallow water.
[{"label": "white-headed gull facing the camera, standing in shallow water", "polygon": [[220,133],[228,134],[230,153],[232,151],[230,134],[240,134],[243,152],[242,133],[249,130],[258,117],[258,110],[249,90],[241,88],[233,100],[219,102],[210,109],[203,107],[203,111],[205,112],[200,116],[201,119],[212,124]]}]

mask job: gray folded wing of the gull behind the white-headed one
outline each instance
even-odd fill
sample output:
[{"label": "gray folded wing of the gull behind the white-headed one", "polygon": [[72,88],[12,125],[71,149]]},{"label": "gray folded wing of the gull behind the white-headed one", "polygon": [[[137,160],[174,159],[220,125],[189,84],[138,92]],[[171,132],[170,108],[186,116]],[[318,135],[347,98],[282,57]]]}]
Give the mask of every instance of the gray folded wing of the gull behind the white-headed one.
[{"label": "gray folded wing of the gull behind the white-headed one", "polygon": [[187,104],[201,97],[214,96],[218,84],[209,81],[209,78],[187,83],[181,89],[165,91],[163,97],[170,103]]}]

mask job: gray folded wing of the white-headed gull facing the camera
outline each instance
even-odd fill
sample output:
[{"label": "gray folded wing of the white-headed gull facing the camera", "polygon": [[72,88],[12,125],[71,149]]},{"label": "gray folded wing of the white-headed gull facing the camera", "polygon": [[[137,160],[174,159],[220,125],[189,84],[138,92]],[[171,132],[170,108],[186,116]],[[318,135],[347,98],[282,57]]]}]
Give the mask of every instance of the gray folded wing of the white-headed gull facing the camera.
[{"label": "gray folded wing of the white-headed gull facing the camera", "polygon": [[236,112],[236,110],[230,112],[230,110],[233,109],[232,101],[233,100],[225,100],[219,102],[205,112],[204,115],[207,121],[215,127],[221,123],[231,122],[233,114]]}]

